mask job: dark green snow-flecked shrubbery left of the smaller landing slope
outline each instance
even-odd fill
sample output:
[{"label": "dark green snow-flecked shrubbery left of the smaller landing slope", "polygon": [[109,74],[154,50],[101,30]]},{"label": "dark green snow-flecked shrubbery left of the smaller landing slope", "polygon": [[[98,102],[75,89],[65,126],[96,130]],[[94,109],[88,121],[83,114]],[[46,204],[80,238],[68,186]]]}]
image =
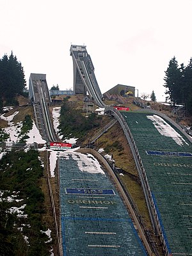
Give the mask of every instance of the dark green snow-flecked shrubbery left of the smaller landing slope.
[{"label": "dark green snow-flecked shrubbery left of the smaller landing slope", "polygon": [[49,237],[41,232],[47,223],[38,152],[12,151],[0,165],[0,255],[49,255],[52,242],[47,244]]}]

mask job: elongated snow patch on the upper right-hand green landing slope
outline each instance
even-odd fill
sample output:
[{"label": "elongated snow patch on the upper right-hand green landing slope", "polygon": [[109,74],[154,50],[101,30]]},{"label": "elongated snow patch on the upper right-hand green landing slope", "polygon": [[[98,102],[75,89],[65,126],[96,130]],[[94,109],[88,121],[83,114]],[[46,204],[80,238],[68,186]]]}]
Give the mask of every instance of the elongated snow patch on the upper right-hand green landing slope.
[{"label": "elongated snow patch on the upper right-hand green landing slope", "polygon": [[148,119],[152,120],[157,131],[166,137],[172,138],[179,146],[182,146],[184,143],[189,145],[180,134],[175,131],[171,125],[167,124],[163,118],[157,115],[147,116]]}]

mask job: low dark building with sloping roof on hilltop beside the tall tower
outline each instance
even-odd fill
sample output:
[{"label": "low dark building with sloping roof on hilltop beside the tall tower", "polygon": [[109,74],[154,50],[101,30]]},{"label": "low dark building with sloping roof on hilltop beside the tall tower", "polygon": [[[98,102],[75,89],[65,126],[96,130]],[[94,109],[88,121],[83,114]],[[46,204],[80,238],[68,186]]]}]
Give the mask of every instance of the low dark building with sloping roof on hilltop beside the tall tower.
[{"label": "low dark building with sloping roof on hilltop beside the tall tower", "polygon": [[116,95],[128,95],[128,96],[135,96],[135,87],[134,86],[129,86],[129,85],[124,85],[124,84],[116,84],[113,88],[108,90],[108,92],[105,92],[103,94],[103,97],[105,97],[105,94],[116,94]]}]

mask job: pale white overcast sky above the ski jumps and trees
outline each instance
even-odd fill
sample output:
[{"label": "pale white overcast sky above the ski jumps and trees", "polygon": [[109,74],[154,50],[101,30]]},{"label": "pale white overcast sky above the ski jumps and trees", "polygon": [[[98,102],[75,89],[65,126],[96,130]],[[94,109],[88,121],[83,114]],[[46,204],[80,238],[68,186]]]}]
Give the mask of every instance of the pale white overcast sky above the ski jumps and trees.
[{"label": "pale white overcast sky above the ski jumps and trees", "polygon": [[6,53],[49,88],[72,88],[70,45],[86,45],[102,93],[116,84],[165,99],[164,71],[192,57],[192,0],[0,0],[0,58]]}]

